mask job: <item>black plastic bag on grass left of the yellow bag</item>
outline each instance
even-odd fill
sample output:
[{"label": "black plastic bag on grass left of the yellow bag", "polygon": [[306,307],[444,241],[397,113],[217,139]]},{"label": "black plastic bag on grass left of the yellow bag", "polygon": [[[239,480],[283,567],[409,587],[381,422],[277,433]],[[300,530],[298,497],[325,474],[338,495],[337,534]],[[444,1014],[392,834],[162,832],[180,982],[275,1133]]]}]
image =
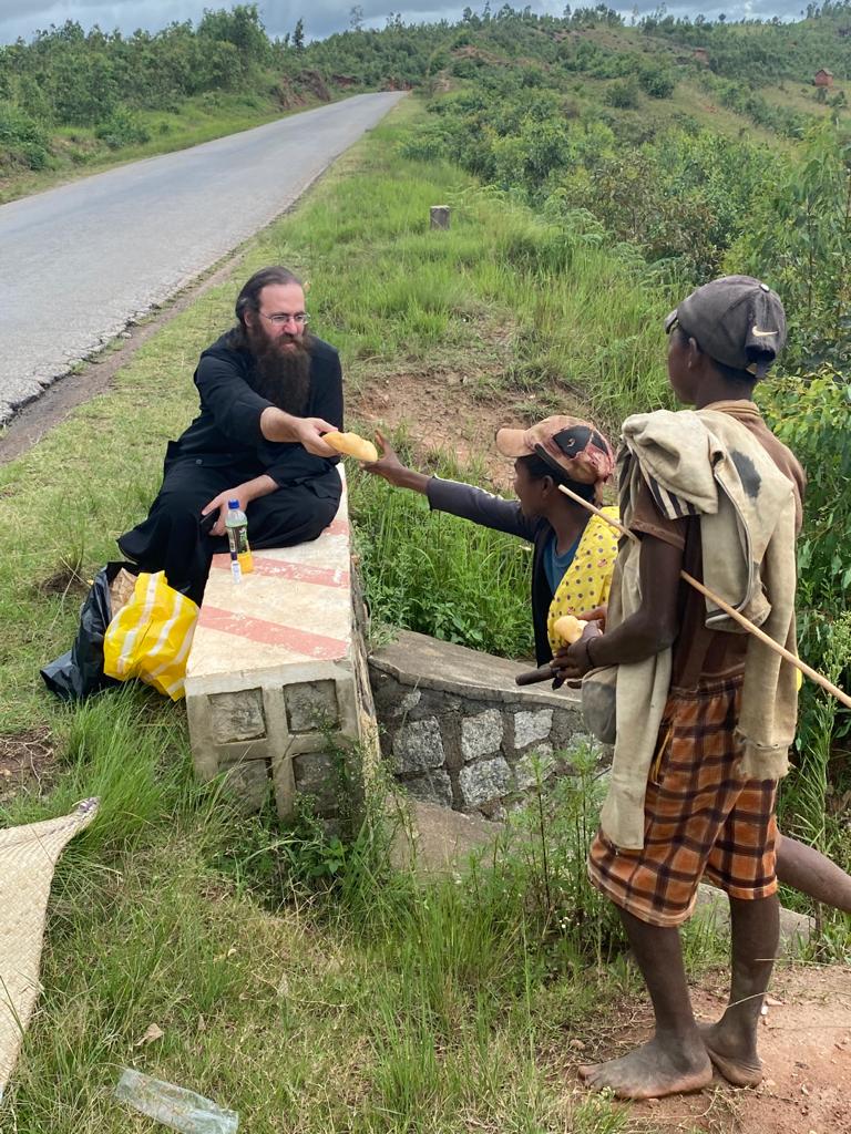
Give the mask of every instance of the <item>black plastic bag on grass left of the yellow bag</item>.
[{"label": "black plastic bag on grass left of the yellow bag", "polygon": [[135,564],[107,564],[94,576],[94,583],[79,611],[79,629],[67,653],[49,662],[41,676],[51,693],[62,701],[81,701],[110,685],[120,685],[103,672],[103,635],[112,620],[109,585],[121,568],[135,575]]}]

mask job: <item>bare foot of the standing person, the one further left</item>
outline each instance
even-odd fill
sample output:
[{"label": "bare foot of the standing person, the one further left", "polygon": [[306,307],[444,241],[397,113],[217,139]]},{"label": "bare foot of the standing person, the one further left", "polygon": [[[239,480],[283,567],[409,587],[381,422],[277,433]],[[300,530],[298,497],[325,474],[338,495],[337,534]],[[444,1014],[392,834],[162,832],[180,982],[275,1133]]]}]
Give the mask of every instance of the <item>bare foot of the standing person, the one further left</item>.
[{"label": "bare foot of the standing person, the one further left", "polygon": [[711,1082],[713,1065],[702,1046],[689,1052],[681,1041],[656,1038],[622,1059],[580,1067],[579,1073],[595,1091],[608,1088],[618,1099],[662,1099],[700,1091]]}]

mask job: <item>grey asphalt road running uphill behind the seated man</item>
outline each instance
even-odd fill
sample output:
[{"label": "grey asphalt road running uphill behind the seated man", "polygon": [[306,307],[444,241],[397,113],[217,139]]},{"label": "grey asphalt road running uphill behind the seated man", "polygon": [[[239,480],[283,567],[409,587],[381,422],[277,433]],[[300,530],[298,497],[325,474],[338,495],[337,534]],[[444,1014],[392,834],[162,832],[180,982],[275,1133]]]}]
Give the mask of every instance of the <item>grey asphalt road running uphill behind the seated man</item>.
[{"label": "grey asphalt road running uphill behind the seated man", "polygon": [[0,206],[0,424],[272,220],[399,98],[356,95]]}]

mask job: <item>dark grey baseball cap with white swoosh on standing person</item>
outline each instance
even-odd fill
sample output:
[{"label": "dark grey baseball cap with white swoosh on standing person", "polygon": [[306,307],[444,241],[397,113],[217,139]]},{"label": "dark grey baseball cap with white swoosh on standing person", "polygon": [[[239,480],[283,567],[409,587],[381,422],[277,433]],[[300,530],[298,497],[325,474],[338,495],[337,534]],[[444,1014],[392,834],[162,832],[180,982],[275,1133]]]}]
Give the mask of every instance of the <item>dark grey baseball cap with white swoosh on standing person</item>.
[{"label": "dark grey baseball cap with white swoosh on standing person", "polygon": [[776,291],[752,276],[722,276],[683,299],[665,320],[679,323],[710,358],[762,378],[786,341],[786,314]]}]

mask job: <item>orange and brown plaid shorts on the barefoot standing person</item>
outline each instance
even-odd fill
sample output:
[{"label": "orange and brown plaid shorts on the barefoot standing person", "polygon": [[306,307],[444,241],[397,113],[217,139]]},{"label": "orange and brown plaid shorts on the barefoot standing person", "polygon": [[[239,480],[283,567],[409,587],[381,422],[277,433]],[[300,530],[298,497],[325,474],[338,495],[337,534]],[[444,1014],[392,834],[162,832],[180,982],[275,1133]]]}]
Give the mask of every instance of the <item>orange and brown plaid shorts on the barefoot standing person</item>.
[{"label": "orange and brown plaid shorts on the barefoot standing person", "polygon": [[617,906],[651,925],[680,925],[711,882],[733,898],[777,890],[776,780],[742,780],[734,730],[742,679],[672,688],[644,798],[644,846],[615,847],[603,833],[588,872]]}]

